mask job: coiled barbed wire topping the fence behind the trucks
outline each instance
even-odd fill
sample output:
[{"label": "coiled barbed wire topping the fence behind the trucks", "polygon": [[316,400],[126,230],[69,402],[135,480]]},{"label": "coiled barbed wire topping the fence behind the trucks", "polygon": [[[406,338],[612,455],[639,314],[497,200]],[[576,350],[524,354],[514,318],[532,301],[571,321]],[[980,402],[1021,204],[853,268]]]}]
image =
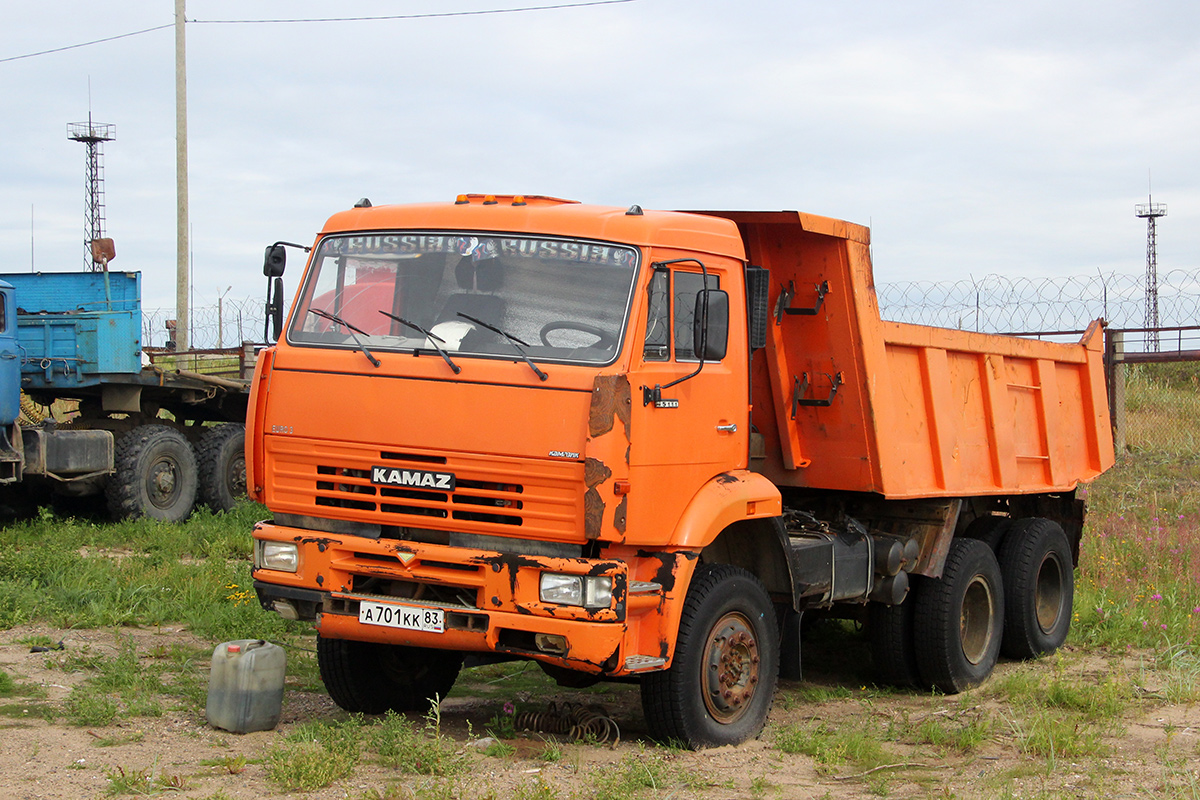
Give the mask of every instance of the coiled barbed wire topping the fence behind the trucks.
[{"label": "coiled barbed wire topping the fence behind the trucks", "polygon": [[[961,281],[901,281],[876,285],[884,319],[988,333],[1082,330],[1098,317],[1110,327],[1142,327],[1146,285],[1141,275],[1012,278],[986,275]],[[167,343],[174,308],[142,314],[145,347]],[[1163,327],[1200,324],[1200,273],[1171,270],[1158,279]],[[192,308],[193,348],[236,347],[263,339],[263,299],[226,299]]]}]

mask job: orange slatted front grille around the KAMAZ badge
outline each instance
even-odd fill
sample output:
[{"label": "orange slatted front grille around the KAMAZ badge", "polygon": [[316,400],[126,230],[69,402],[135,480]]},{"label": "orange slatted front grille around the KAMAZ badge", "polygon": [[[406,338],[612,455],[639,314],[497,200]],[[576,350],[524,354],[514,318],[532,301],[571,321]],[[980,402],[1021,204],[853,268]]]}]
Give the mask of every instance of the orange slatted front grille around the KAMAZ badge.
[{"label": "orange slatted front grille around the KAMAZ badge", "polygon": [[[522,537],[582,536],[583,465],[486,456],[395,452],[353,445],[330,447],[268,438],[271,492],[281,512],[343,516],[392,527],[445,527],[464,533]],[[372,467],[451,473],[454,488],[373,485]],[[323,513],[320,510],[325,510]]]}]

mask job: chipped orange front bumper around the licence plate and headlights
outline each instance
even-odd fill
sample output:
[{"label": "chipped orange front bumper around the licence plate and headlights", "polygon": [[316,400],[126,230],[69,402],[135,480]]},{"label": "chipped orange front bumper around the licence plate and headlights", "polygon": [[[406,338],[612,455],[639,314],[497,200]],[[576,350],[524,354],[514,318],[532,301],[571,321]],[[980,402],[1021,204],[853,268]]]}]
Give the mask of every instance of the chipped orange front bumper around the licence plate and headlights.
[{"label": "chipped orange front bumper around the licence plate and headlights", "polygon": [[[295,542],[296,572],[256,569],[264,608],[311,609],[322,636],[461,651],[490,651],[538,658],[604,675],[643,672],[666,664],[661,587],[634,581],[637,565],[624,559],[515,555],[401,540],[373,540],[259,523],[257,541]],[[661,560],[653,566],[661,569]],[[605,576],[612,579],[606,608],[545,603],[542,572]],[[630,589],[634,589],[631,593]],[[658,589],[658,591],[655,591]],[[365,600],[444,612],[440,633],[359,621]],[[280,603],[278,601],[286,601]],[[557,638],[547,638],[557,637]],[[653,652],[640,640],[649,638]],[[553,645],[547,649],[547,642]]]}]

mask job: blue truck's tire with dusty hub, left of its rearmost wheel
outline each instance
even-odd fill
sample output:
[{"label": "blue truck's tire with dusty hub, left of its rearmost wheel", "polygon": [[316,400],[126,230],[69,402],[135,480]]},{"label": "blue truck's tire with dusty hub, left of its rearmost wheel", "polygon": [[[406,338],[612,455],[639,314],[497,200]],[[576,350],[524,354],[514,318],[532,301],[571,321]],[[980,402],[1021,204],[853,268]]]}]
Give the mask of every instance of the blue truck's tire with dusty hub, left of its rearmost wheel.
[{"label": "blue truck's tire with dusty hub, left of its rearmost wheel", "polygon": [[196,505],[196,455],[166,425],[139,425],[116,440],[104,495],[114,519],[182,522]]}]

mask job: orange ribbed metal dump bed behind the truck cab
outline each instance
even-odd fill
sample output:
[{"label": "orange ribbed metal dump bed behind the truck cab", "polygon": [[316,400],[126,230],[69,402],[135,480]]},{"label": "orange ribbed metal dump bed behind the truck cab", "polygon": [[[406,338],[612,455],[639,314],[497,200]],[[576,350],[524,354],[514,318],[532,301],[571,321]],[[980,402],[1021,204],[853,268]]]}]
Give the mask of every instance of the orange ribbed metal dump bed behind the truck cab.
[{"label": "orange ribbed metal dump bed behind the truck cab", "polygon": [[716,211],[769,271],[752,367],[755,465],[780,486],[887,498],[1069,489],[1112,464],[1098,323],[1078,344],[882,321],[870,231]]}]

